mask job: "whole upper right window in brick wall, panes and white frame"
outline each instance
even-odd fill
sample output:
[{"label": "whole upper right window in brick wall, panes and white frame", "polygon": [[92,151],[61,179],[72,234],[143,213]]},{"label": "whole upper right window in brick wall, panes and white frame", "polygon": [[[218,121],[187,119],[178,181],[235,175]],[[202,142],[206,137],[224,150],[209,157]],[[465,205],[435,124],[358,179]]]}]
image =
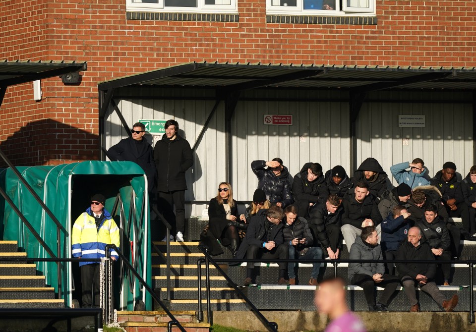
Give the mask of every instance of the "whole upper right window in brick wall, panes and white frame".
[{"label": "whole upper right window in brick wall, panes and white frame", "polygon": [[375,0],[266,0],[272,14],[375,15]]}]

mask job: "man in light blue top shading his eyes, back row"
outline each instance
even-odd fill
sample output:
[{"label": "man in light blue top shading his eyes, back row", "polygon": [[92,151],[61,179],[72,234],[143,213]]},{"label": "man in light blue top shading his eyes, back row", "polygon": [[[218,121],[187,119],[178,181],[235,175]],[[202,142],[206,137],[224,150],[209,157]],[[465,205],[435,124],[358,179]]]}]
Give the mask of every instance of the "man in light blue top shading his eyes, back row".
[{"label": "man in light blue top shading his eyes, back row", "polygon": [[[412,164],[405,162],[390,167],[390,172],[399,184],[406,183],[410,188],[426,186],[430,184],[428,170],[420,158],[415,158]],[[407,170],[410,168],[410,170]]]}]

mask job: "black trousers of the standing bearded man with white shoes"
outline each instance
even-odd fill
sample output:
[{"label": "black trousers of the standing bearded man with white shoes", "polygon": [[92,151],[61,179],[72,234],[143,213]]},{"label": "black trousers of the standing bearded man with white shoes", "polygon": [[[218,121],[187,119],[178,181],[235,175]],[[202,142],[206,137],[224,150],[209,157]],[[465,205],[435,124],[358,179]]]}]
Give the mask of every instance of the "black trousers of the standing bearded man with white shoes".
[{"label": "black trousers of the standing bearded man with white shoes", "polygon": [[[175,214],[174,214],[175,205]],[[172,226],[171,233],[185,231],[185,190],[164,192],[159,191],[158,210]]]}]

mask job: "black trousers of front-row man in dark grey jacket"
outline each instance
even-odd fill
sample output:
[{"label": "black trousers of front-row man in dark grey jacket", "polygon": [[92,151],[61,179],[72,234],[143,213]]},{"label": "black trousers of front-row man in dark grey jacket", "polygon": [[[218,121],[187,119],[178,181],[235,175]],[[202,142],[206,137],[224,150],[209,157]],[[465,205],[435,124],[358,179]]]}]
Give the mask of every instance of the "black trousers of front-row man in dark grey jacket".
[{"label": "black trousers of front-row man in dark grey jacket", "polygon": [[379,283],[375,283],[372,277],[368,275],[355,275],[352,277],[351,283],[363,288],[365,300],[367,300],[367,304],[369,306],[375,305],[375,286],[384,287],[378,303],[388,306],[390,304],[390,298],[392,297],[392,294],[400,284],[400,279],[395,276],[384,274],[382,277],[383,281]]}]

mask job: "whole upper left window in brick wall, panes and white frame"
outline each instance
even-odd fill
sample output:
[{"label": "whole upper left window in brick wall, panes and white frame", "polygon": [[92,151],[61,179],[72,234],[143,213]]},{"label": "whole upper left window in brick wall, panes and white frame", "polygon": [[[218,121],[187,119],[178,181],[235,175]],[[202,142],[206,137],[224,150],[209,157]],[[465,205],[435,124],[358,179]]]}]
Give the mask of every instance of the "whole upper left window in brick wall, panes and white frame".
[{"label": "whole upper left window in brick wall, panes and white frame", "polygon": [[129,11],[237,12],[237,0],[126,0]]}]

